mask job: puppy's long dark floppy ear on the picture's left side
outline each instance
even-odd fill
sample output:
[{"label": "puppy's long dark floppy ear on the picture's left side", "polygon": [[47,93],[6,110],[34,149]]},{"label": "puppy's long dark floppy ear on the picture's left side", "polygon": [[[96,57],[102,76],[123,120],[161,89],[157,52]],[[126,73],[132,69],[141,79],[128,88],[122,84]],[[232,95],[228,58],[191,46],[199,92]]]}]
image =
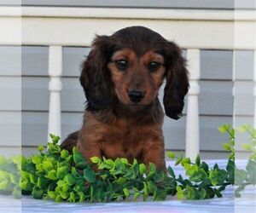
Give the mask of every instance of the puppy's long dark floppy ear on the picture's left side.
[{"label": "puppy's long dark floppy ear on the picture's left side", "polygon": [[107,64],[111,52],[110,37],[96,36],[84,64],[80,83],[87,99],[86,109],[98,111],[108,108],[113,101],[113,83]]}]

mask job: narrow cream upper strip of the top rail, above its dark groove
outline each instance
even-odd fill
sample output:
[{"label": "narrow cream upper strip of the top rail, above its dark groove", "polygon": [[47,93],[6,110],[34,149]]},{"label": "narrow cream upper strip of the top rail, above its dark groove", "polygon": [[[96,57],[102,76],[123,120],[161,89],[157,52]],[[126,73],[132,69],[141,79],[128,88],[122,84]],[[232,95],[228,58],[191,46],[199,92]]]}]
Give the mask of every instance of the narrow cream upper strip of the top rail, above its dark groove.
[{"label": "narrow cream upper strip of the top rail, above its dark groove", "polygon": [[256,20],[256,10],[245,9],[125,9],[74,7],[6,7],[0,16],[68,17],[143,20]]}]

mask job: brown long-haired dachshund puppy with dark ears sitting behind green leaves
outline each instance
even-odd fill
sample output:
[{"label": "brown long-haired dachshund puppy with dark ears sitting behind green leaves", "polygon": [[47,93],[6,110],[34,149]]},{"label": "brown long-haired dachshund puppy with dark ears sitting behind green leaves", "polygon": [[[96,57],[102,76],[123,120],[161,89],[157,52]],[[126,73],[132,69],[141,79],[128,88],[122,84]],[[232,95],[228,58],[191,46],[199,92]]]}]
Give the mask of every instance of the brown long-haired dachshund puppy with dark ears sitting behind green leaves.
[{"label": "brown long-haired dachshund puppy with dark ears sitting behind green leaves", "polygon": [[165,79],[165,112],[178,119],[189,79],[177,44],[143,26],[97,36],[80,76],[87,100],[84,124],[61,147],[70,151],[77,146],[88,161],[93,156],[137,158],[166,170],[164,112],[158,99]]}]

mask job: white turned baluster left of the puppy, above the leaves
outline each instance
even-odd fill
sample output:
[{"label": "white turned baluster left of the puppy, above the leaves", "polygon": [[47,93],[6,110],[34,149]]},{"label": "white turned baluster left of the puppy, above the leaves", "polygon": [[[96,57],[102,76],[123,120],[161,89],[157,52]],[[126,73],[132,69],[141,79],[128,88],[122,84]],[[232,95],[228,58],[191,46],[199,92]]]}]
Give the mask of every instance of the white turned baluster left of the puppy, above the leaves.
[{"label": "white turned baluster left of the puppy, above the leaves", "polygon": [[49,46],[49,133],[61,136],[62,47]]}]

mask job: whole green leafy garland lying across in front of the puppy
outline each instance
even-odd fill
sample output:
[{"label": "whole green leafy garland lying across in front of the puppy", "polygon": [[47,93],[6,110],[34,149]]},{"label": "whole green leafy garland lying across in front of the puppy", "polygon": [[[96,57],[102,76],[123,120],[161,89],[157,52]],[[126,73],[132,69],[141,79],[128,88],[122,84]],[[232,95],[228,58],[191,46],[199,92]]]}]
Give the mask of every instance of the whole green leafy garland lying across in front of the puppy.
[{"label": "whole green leafy garland lying across in front of the puppy", "polygon": [[246,170],[238,170],[235,165],[236,131],[230,125],[223,125],[218,130],[229,135],[224,144],[224,149],[230,152],[226,167],[214,164],[210,168],[200,156],[192,162],[183,157],[183,153],[179,156],[168,153],[169,158],[176,160],[176,165],[183,167],[185,176],[177,176],[171,166],[167,174],[156,170],[154,164],[147,168],[136,159],[131,163],[126,158],[93,157],[88,164],[77,148],[73,148],[71,154],[61,150],[60,137],[50,135],[52,141],[46,151],[39,146],[38,154],[29,158],[0,158],[0,193],[14,193],[19,198],[21,189],[23,195],[31,194],[34,199],[55,199],[57,202],[164,200],[167,195],[177,195],[178,199],[212,199],[222,197],[227,186],[236,184],[236,196],[239,196],[244,187],[255,184],[256,131],[242,129],[251,135],[253,142],[245,147],[253,154]]}]

